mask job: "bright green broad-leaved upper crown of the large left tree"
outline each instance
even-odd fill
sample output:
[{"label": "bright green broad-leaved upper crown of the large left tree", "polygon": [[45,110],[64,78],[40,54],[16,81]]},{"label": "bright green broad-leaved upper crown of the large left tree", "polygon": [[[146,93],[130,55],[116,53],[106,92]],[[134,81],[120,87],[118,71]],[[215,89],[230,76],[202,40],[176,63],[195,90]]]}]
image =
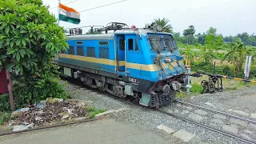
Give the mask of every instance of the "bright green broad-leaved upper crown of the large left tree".
[{"label": "bright green broad-leaved upper crown of the large left tree", "polygon": [[33,74],[67,46],[63,30],[42,1],[6,0],[0,12],[0,63],[19,74]]}]

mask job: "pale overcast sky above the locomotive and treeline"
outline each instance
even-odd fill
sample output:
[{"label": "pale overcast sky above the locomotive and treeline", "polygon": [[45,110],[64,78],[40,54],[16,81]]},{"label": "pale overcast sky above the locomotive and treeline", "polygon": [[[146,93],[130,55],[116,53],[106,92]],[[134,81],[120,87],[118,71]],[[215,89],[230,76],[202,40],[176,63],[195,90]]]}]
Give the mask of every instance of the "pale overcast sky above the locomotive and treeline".
[{"label": "pale overcast sky above the locomotive and treeline", "polygon": [[[88,10],[121,0],[61,0],[75,10]],[[58,18],[58,0],[42,0]],[[183,33],[193,25],[196,34],[206,32],[210,26],[223,36],[247,32],[256,34],[256,0],[127,0],[81,13],[78,25],[60,22],[66,28],[106,26],[109,22],[123,22],[128,26],[143,27],[154,18],[168,18],[174,32]]]}]

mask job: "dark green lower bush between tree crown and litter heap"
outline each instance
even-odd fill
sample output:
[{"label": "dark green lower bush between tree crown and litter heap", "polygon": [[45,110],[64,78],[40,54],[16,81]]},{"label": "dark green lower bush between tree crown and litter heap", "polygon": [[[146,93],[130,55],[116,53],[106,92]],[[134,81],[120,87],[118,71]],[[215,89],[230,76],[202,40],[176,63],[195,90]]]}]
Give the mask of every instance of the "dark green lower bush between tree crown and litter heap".
[{"label": "dark green lower bush between tree crown and litter heap", "polygon": [[59,78],[56,75],[58,67],[52,65],[54,64],[49,63],[42,70],[40,77],[15,78],[17,82],[14,82],[14,95],[18,96],[15,99],[16,107],[31,105],[46,98],[66,99],[70,97],[70,94],[63,90],[63,85],[59,83]]}]

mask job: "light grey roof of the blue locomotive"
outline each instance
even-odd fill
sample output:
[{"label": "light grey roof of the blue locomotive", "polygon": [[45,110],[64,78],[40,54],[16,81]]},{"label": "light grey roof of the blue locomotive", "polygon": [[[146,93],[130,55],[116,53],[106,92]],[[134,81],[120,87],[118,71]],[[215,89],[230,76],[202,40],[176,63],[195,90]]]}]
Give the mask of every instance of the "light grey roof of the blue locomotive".
[{"label": "light grey roof of the blue locomotive", "polygon": [[148,29],[123,29],[123,30],[116,30],[113,34],[85,34],[85,35],[71,35],[67,36],[67,40],[112,40],[114,39],[114,34],[141,34],[146,35],[148,33],[154,34],[170,34],[166,32],[155,32],[154,30]]}]

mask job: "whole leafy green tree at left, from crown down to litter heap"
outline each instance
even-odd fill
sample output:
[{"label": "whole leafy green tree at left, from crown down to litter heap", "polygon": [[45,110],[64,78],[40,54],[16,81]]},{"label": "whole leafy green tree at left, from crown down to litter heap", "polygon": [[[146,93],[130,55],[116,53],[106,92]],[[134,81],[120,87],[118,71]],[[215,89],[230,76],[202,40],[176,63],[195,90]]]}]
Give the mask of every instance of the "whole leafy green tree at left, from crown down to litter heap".
[{"label": "whole leafy green tree at left, from crown down to litter heap", "polygon": [[48,8],[41,0],[0,2],[0,69],[18,73],[12,76],[19,106],[66,96],[53,60],[68,44]]}]

